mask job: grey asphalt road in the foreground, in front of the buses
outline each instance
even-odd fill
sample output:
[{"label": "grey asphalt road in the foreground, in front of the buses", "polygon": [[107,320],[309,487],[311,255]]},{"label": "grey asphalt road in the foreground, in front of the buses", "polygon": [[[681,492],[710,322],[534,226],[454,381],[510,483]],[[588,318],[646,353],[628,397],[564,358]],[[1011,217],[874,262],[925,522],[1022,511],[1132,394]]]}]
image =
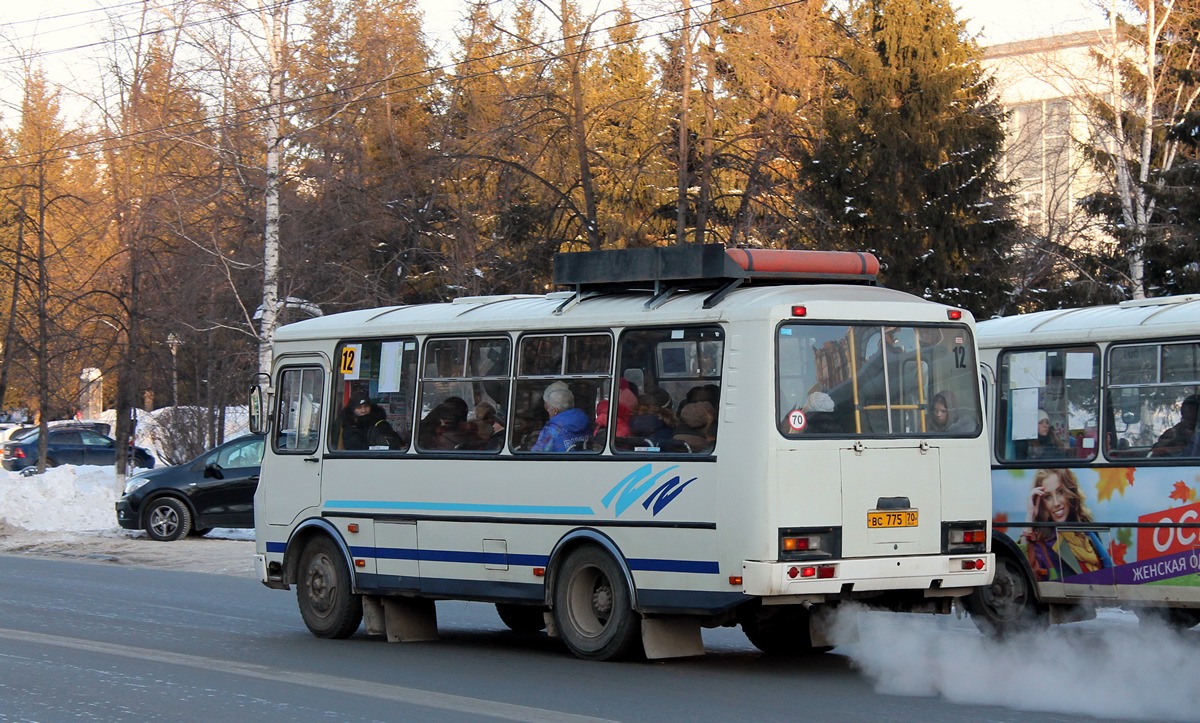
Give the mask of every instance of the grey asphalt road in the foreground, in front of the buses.
[{"label": "grey asphalt road in the foreground, in front of the buses", "polygon": [[491,605],[438,616],[436,643],[319,640],[244,575],[0,555],[0,721],[1080,719],[881,693],[839,651],[773,659],[737,629],[702,658],[587,663]]}]

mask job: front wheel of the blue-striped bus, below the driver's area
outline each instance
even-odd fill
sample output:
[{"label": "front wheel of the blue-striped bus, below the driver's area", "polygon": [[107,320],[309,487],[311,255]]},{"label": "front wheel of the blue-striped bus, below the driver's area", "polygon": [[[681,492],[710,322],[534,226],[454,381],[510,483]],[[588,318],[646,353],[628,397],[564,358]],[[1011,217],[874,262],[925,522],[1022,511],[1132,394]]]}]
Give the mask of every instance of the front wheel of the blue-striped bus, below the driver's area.
[{"label": "front wheel of the blue-striped bus, below the driver's area", "polygon": [[318,638],[349,638],[362,622],[362,598],[350,592],[350,570],[328,537],[313,538],[300,555],[296,603]]}]

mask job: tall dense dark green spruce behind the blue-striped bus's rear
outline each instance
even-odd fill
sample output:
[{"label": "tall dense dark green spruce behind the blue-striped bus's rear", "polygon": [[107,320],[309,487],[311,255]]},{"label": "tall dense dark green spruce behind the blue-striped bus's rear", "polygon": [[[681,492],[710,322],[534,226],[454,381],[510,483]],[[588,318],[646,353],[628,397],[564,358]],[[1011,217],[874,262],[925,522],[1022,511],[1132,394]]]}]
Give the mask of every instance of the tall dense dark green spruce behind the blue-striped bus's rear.
[{"label": "tall dense dark green spruce behind the blue-striped bus's rear", "polygon": [[989,315],[1007,289],[1003,115],[948,0],[853,0],[833,97],[804,150],[822,247],[874,251],[882,281]]}]

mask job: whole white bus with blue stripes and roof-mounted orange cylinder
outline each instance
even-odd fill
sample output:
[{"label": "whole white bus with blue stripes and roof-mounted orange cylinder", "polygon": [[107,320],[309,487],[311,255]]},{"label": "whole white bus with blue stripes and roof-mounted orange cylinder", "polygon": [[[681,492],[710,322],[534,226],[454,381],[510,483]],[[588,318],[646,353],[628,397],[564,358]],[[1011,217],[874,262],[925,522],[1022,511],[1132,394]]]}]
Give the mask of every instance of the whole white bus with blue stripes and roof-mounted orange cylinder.
[{"label": "whole white bus with blue stripes and roof-mounted orange cylinder", "polygon": [[[278,329],[257,569],[318,637],[437,635],[494,603],[576,656],[701,655],[702,626],[826,647],[860,600],[991,579],[968,313],[860,253],[564,253],[546,295]],[[937,405],[948,406],[941,418]]]}]

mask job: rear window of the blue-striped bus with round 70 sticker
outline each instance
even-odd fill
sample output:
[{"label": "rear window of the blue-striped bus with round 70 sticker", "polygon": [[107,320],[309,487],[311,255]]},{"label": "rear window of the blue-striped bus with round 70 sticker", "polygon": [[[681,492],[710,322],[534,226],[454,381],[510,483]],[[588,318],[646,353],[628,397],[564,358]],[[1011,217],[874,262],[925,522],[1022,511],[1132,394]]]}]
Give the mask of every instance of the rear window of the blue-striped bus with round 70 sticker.
[{"label": "rear window of the blue-striped bus with round 70 sticker", "polygon": [[976,436],[970,333],[958,325],[785,323],[778,331],[785,436]]}]

